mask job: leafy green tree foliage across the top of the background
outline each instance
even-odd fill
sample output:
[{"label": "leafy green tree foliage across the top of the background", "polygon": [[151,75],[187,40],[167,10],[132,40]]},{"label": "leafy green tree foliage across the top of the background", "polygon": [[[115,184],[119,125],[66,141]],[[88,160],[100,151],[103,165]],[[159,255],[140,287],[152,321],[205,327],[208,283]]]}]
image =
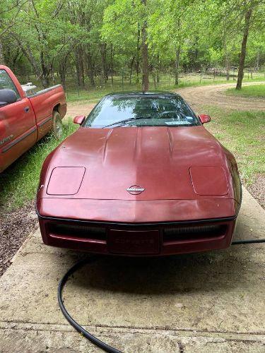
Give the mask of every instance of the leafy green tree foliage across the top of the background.
[{"label": "leafy green tree foliage across the top of the background", "polygon": [[[147,25],[150,77],[237,66],[245,13],[252,8],[245,66],[265,64],[262,0],[2,0],[0,61],[42,85],[72,77],[100,86],[124,73],[141,83],[141,29]],[[3,10],[4,9],[4,10]],[[88,77],[89,80],[86,81]]]}]

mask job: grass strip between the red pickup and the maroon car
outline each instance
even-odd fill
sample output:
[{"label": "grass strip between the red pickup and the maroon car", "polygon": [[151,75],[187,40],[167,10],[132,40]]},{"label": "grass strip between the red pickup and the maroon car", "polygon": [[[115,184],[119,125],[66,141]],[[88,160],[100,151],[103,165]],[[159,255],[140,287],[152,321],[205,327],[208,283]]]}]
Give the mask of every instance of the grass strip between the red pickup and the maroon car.
[{"label": "grass strip between the red pickup and the maroon car", "polygon": [[[64,122],[61,140],[76,128],[72,121]],[[1,209],[12,210],[35,198],[42,163],[60,142],[50,133],[0,174],[0,213]]]}]

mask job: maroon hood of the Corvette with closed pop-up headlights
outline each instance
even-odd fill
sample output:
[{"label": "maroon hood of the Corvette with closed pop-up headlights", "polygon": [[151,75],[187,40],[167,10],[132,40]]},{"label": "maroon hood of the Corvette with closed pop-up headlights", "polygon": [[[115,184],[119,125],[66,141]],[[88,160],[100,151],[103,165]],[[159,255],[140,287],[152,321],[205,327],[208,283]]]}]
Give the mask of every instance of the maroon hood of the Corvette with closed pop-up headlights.
[{"label": "maroon hood of the Corvette with closed pop-up headlights", "polygon": [[232,197],[223,146],[204,126],[81,127],[59,145],[48,162],[41,179],[42,197],[139,201],[206,198],[207,192],[198,195],[196,189],[201,190],[201,186],[196,188],[192,179],[199,176],[200,180],[202,175],[207,189],[207,173],[211,174],[209,182],[215,174],[215,169],[207,167],[218,167],[217,172],[222,169],[225,190],[220,192],[216,183],[207,198]]}]

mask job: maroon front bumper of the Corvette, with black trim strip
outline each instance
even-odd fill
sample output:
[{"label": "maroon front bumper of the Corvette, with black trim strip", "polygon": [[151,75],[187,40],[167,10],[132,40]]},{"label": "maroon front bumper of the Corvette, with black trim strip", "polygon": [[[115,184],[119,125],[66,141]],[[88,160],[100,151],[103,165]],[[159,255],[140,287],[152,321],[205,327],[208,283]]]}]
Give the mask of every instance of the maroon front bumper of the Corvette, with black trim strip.
[{"label": "maroon front bumper of the Corvette, with black trim strip", "polygon": [[[42,239],[51,246],[122,256],[164,256],[230,246],[239,210],[234,200],[136,203],[42,199],[37,203]],[[219,217],[214,217],[216,210]]]}]

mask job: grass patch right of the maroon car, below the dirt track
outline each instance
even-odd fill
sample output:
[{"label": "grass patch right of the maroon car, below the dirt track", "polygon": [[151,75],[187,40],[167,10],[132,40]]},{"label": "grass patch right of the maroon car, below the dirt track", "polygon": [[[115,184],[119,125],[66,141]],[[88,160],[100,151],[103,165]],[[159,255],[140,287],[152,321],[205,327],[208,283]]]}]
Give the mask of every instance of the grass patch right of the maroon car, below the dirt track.
[{"label": "grass patch right of the maroon car, below the dirt track", "polygon": [[225,111],[206,107],[212,121],[206,128],[235,155],[245,185],[265,174],[265,112]]}]

